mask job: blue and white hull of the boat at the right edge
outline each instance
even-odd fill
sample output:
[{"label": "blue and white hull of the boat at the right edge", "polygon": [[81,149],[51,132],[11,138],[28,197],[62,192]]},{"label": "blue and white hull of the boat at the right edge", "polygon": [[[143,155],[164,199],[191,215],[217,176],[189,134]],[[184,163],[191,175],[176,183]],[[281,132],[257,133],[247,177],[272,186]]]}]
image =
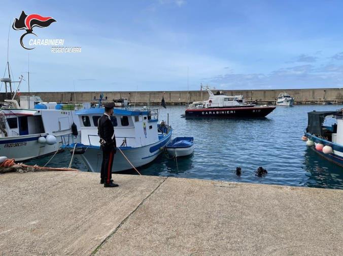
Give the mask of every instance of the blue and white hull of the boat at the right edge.
[{"label": "blue and white hull of the boat at the right edge", "polygon": [[[315,145],[312,146],[311,148],[317,152],[321,157],[343,167],[343,146],[342,145],[339,145],[339,144],[336,144],[336,143],[332,143],[331,141],[327,141],[327,140],[324,140],[324,139],[321,139],[321,138],[318,138],[316,136],[313,136],[312,134],[310,133],[305,133],[305,136],[308,138],[308,139],[311,139],[314,141]],[[333,152],[331,154],[324,154],[322,151],[318,151],[316,150],[316,145],[318,143],[321,143],[323,144],[324,146],[330,146],[332,147],[333,149]]]}]

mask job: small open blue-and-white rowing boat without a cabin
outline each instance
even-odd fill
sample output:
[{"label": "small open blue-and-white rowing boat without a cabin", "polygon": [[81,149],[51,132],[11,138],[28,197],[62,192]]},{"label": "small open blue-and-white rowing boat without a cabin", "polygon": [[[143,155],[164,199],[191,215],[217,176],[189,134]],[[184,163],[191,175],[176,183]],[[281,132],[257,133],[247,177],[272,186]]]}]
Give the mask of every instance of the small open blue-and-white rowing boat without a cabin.
[{"label": "small open blue-and-white rowing boat without a cabin", "polygon": [[176,137],[169,142],[166,147],[169,155],[172,156],[186,156],[194,151],[193,137]]}]

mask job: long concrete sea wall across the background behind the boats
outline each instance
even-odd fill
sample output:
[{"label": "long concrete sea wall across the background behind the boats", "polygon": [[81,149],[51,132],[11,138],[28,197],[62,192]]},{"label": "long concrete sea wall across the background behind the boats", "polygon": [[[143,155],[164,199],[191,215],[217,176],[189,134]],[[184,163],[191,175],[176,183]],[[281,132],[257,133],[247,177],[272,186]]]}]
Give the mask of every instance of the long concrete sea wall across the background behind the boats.
[{"label": "long concrete sea wall across the background behind the boats", "polygon": [[[248,101],[273,102],[281,92],[287,92],[295,98],[297,104],[318,103],[320,101],[343,102],[343,89],[289,89],[289,90],[221,90],[226,95],[243,95]],[[213,90],[216,93],[217,90]],[[47,102],[90,102],[96,101],[101,92],[32,92],[30,95],[41,96]],[[166,104],[185,104],[187,102],[207,100],[207,91],[146,91],[146,92],[103,92],[107,101],[117,98],[126,98],[130,102],[157,104],[162,96]],[[28,93],[21,93],[28,95]],[[0,101],[4,101],[5,93],[0,94]]]}]

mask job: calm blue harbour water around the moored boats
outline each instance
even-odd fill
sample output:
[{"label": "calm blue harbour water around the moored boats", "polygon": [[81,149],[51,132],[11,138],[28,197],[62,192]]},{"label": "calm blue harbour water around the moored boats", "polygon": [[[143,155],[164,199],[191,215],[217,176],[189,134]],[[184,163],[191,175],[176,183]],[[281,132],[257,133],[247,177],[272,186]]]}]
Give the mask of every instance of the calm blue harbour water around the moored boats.
[{"label": "calm blue harbour water around the moored boats", "polygon": [[[167,106],[160,109],[159,119],[166,120],[169,113],[174,137],[194,137],[194,153],[177,161],[161,154],[139,170],[152,176],[343,189],[343,168],[321,158],[301,141],[307,112],[341,107],[278,106],[264,119],[185,119],[180,117],[185,106]],[[30,163],[44,165],[50,157]],[[58,153],[49,166],[67,166],[70,159],[70,153]],[[242,168],[241,176],[236,175],[237,166]],[[259,166],[268,171],[263,177],[255,175]],[[77,159],[72,167],[88,171]]]}]

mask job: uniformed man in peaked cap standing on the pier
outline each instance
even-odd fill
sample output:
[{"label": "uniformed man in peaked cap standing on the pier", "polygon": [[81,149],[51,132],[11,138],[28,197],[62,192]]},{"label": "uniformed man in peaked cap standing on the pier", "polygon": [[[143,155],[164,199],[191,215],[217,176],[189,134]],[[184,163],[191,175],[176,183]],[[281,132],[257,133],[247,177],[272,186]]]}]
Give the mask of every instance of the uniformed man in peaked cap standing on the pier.
[{"label": "uniformed man in peaked cap standing on the pier", "polygon": [[104,184],[104,187],[118,187],[118,184],[113,183],[112,180],[113,158],[117,151],[116,137],[111,121],[114,106],[113,102],[104,105],[105,113],[98,119],[98,135],[102,149],[100,184]]}]

